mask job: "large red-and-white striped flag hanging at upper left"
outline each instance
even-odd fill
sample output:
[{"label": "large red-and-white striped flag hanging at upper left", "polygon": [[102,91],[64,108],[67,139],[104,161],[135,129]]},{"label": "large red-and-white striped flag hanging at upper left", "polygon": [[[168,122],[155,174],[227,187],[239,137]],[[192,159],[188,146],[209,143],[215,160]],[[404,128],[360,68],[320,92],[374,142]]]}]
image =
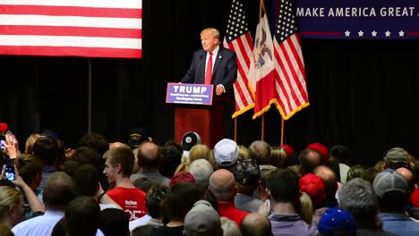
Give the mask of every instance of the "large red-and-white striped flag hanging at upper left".
[{"label": "large red-and-white striped flag hanging at upper left", "polygon": [[141,58],[141,0],[2,0],[0,54]]}]

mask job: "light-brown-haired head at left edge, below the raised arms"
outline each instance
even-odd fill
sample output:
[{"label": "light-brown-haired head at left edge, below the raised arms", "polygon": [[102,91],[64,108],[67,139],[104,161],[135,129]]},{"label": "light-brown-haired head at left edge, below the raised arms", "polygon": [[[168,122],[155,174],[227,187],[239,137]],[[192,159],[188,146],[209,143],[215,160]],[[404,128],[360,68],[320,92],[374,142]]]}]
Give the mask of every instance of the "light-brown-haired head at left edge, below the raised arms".
[{"label": "light-brown-haired head at left edge, below the raised arms", "polygon": [[17,213],[22,206],[23,199],[19,190],[10,186],[0,186],[0,219],[10,217],[12,221],[14,220],[13,225],[19,223],[22,215]]}]

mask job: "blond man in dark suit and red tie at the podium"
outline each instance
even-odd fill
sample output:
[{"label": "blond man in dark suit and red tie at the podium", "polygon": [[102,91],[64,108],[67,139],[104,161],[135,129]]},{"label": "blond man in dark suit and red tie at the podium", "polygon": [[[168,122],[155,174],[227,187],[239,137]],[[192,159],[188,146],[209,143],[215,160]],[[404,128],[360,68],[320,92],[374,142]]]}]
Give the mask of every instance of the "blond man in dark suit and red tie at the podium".
[{"label": "blond man in dark suit and red tie at the podium", "polygon": [[193,54],[191,67],[181,83],[213,84],[218,96],[233,95],[237,78],[235,52],[219,46],[219,31],[207,28],[201,31],[202,49]]}]

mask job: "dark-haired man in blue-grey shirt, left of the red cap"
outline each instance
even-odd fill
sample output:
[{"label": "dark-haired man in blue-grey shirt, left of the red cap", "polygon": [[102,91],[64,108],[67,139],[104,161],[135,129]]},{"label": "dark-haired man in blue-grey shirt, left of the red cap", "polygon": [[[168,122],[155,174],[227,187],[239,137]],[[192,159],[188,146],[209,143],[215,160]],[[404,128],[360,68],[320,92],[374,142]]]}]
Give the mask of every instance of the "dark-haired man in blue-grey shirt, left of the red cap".
[{"label": "dark-haired man in blue-grey shirt, left of the red cap", "polygon": [[279,169],[270,173],[267,182],[270,207],[264,204],[264,214],[269,215],[273,235],[315,235],[315,229],[305,223],[295,212],[295,201],[300,196],[298,175]]}]

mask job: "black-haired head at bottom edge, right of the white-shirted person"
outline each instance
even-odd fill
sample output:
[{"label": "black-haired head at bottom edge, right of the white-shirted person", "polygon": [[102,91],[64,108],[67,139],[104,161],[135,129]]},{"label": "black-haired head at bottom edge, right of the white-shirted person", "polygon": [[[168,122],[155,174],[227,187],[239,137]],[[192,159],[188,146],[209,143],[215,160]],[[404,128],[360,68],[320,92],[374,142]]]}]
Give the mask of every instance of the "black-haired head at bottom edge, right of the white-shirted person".
[{"label": "black-haired head at bottom edge, right of the white-shirted person", "polygon": [[100,207],[95,198],[79,196],[65,207],[64,228],[67,235],[92,236],[98,231]]}]

